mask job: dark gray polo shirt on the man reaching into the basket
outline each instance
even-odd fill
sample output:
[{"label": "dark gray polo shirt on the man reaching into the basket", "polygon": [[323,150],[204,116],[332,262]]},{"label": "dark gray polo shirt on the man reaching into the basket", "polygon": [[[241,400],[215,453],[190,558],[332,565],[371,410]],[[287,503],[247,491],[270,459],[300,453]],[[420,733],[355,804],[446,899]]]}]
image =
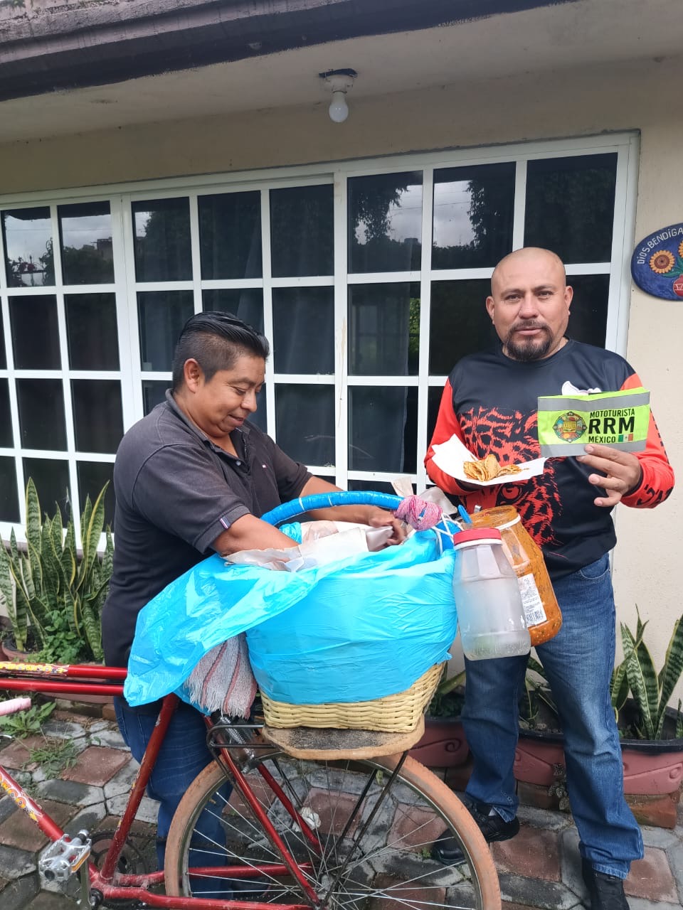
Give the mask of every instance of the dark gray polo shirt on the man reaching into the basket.
[{"label": "dark gray polo shirt on the man reaching into the basket", "polygon": [[238,458],[214,445],[170,394],[127,431],[114,465],[114,572],[102,612],[105,659],[126,666],[138,612],[242,515],[296,499],[311,474],[245,423]]}]

